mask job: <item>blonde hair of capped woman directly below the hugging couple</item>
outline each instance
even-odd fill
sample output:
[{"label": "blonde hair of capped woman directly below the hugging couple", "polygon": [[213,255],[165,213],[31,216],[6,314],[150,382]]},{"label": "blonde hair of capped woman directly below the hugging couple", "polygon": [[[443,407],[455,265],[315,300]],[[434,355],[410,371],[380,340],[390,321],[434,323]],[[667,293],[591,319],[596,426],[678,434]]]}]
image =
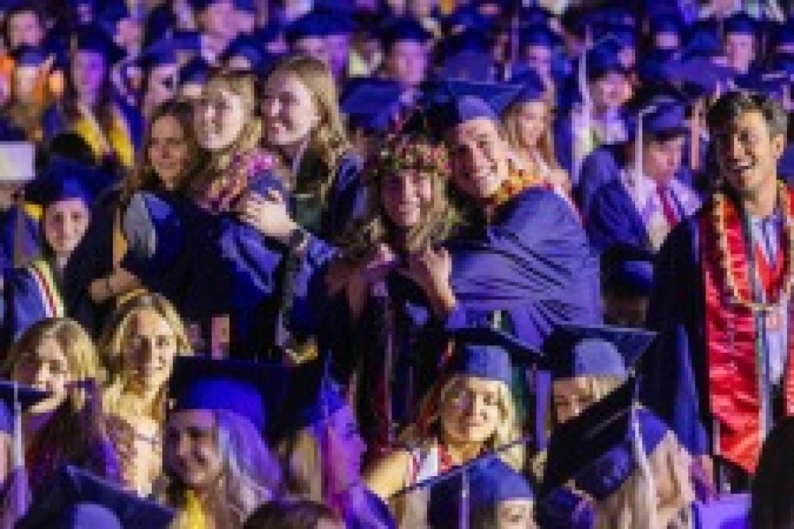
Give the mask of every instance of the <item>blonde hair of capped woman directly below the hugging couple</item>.
[{"label": "blonde hair of capped woman directly below the hugging couple", "polygon": [[[450,394],[456,389],[457,385],[466,378],[465,375],[457,374],[444,381],[440,389],[431,389],[424,397],[420,409],[423,417],[420,423],[407,428],[401,441],[413,446],[429,446],[437,443],[441,439],[441,408],[449,400]],[[499,389],[497,397],[499,399],[499,424],[496,426],[491,438],[485,442],[485,449],[492,450],[508,443],[512,443],[521,438],[521,429],[518,425],[518,414],[515,411],[515,404],[510,388],[503,381],[496,382]],[[518,472],[522,471],[524,465],[524,449],[522,445],[517,445],[509,450],[503,450],[499,458],[507,465]]]}]

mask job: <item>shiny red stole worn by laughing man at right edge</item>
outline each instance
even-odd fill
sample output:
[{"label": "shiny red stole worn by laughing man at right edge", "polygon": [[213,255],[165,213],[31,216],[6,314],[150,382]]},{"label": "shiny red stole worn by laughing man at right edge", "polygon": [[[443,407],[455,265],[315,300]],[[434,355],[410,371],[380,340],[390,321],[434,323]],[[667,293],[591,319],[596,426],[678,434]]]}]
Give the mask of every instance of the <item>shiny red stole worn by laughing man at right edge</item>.
[{"label": "shiny red stole worn by laughing man at right edge", "polygon": [[[788,215],[794,215],[794,197],[788,187]],[[761,451],[764,432],[761,431],[761,388],[757,358],[757,330],[753,311],[731,299],[726,282],[726,271],[720,262],[719,235],[715,222],[712,201],[700,215],[700,253],[703,263],[703,285],[705,294],[706,361],[708,370],[708,393],[711,414],[714,417],[715,446],[717,454],[754,473]],[[745,235],[742,218],[733,203],[723,199],[725,230],[727,232],[727,259],[730,259],[738,293],[751,300],[750,270],[746,263]],[[779,261],[788,255],[788,242],[781,245]],[[757,263],[757,269],[764,266]],[[787,270],[780,269],[780,277]],[[777,284],[773,278],[765,278],[765,286]],[[771,281],[769,281],[771,279]],[[767,282],[769,281],[769,282]],[[772,293],[771,301],[777,301],[780,289]],[[789,309],[788,359],[784,373],[784,413],[794,413],[794,377],[792,377],[792,345],[794,345],[794,320]]]}]

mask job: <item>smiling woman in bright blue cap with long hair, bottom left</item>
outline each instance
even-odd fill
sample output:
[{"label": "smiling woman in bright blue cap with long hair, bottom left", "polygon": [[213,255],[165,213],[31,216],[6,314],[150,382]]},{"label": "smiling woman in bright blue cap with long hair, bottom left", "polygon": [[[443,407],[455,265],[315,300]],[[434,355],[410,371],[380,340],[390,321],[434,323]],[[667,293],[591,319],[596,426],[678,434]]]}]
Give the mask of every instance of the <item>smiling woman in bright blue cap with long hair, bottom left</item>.
[{"label": "smiling woman in bright blue cap with long hair, bottom left", "polygon": [[175,527],[242,527],[279,494],[279,465],[261,435],[268,413],[262,393],[277,376],[252,362],[178,358],[158,484],[179,513]]}]

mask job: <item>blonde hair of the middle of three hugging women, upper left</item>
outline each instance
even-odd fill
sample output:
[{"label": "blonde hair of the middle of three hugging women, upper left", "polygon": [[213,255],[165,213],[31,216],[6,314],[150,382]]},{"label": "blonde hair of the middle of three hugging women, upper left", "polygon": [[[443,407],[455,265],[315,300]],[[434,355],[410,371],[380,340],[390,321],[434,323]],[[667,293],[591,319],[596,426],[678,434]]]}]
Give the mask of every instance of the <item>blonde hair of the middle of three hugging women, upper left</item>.
[{"label": "blonde hair of the middle of three hugging women, upper left", "polygon": [[192,195],[201,195],[211,182],[225,174],[234,159],[255,151],[262,139],[262,123],[256,108],[256,77],[245,71],[214,70],[202,91],[206,93],[217,87],[241,98],[248,120],[245,121],[237,140],[234,140],[229,147],[206,156],[204,166],[198,169],[190,182],[187,182],[187,190]]}]

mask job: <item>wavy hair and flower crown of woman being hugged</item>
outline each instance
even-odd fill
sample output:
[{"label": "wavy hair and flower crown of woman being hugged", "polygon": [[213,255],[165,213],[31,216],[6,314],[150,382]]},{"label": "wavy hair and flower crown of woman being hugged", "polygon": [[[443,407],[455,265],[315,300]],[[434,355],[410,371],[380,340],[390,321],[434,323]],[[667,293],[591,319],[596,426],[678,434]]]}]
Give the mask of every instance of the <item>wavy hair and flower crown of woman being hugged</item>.
[{"label": "wavy hair and flower crown of woman being hugged", "polygon": [[404,247],[408,254],[433,247],[445,240],[459,224],[460,216],[447,201],[449,151],[444,144],[426,136],[401,134],[384,141],[368,159],[364,177],[367,182],[367,213],[341,236],[343,259],[351,263],[364,259],[380,243],[394,244],[394,228],[383,206],[384,178],[395,171],[418,171],[431,178],[433,199],[422,212],[422,220],[410,228]]}]

